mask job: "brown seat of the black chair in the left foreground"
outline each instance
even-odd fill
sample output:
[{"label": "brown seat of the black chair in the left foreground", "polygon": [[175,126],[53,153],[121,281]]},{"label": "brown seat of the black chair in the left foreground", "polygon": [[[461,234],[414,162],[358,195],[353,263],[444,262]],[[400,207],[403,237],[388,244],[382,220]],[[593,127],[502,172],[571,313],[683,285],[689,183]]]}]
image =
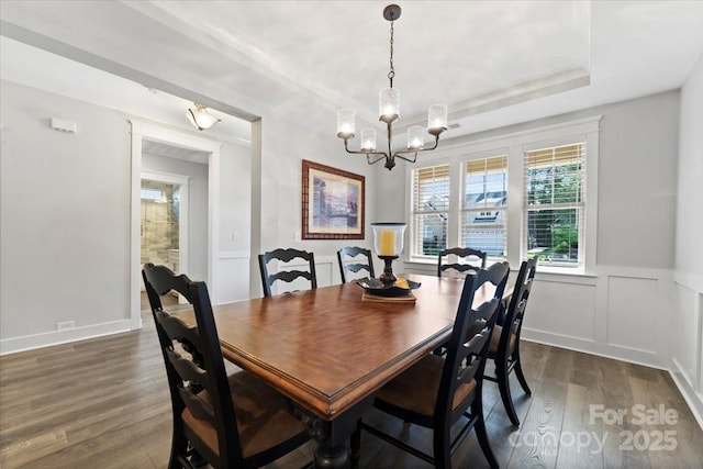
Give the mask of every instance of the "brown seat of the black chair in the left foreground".
[{"label": "brown seat of the black chair in the left foreground", "polygon": [[[232,403],[239,428],[242,456],[247,458],[286,442],[305,428],[289,411],[286,398],[255,376],[239,371],[228,377]],[[208,391],[198,394],[211,404]],[[217,433],[209,422],[196,418],[186,407],[181,414],[188,425],[214,454],[219,454]]]}]

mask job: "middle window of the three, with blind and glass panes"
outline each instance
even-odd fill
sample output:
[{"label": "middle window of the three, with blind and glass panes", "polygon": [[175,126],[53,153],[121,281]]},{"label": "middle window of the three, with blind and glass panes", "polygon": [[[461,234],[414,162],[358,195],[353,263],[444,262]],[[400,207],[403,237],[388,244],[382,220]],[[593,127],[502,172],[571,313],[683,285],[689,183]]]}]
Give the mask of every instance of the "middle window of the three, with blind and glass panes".
[{"label": "middle window of the three, with blind and glass panes", "polygon": [[506,256],[507,155],[466,161],[459,243]]}]

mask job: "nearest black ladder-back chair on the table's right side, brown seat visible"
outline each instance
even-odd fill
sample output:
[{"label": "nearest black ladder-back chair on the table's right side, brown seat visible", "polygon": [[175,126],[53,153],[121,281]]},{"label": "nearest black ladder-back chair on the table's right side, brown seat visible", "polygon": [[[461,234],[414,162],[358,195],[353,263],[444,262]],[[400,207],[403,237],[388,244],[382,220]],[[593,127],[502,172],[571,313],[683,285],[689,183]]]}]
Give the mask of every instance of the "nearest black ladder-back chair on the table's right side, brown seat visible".
[{"label": "nearest black ladder-back chair on the table's right side, brown seat visible", "polygon": [[[361,431],[366,431],[437,468],[451,468],[451,454],[466,435],[476,428],[481,450],[491,468],[498,468],[486,433],[481,390],[483,368],[490,337],[495,324],[500,298],[507,280],[509,267],[495,264],[476,276],[467,276],[447,353],[444,357],[428,354],[417,364],[383,386],[373,406],[410,424],[433,431],[433,455],[414,448],[401,439],[365,423],[361,418],[352,436],[353,461],[358,464]],[[496,282],[496,298],[473,308],[473,297],[486,282]],[[467,340],[469,328],[476,334]],[[453,440],[455,423],[466,417],[466,424]]]}]

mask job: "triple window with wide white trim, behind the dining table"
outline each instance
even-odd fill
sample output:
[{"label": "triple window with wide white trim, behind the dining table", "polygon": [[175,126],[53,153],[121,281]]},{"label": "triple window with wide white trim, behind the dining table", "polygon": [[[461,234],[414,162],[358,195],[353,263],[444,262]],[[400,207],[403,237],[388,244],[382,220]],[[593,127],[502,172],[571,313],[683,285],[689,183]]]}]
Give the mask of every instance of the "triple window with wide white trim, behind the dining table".
[{"label": "triple window with wide white trim, behind the dining table", "polygon": [[460,246],[513,268],[538,256],[542,272],[594,275],[601,119],[457,137],[427,167],[409,165],[409,269]]}]

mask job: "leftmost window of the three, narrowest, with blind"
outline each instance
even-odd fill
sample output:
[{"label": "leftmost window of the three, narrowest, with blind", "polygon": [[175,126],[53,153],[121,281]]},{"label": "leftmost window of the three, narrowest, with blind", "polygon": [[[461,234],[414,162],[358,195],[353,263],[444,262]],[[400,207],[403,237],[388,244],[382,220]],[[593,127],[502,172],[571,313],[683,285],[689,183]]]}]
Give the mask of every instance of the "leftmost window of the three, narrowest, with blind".
[{"label": "leftmost window of the three, narrowest, with blind", "polygon": [[447,247],[449,165],[412,172],[412,255],[436,256]]}]

